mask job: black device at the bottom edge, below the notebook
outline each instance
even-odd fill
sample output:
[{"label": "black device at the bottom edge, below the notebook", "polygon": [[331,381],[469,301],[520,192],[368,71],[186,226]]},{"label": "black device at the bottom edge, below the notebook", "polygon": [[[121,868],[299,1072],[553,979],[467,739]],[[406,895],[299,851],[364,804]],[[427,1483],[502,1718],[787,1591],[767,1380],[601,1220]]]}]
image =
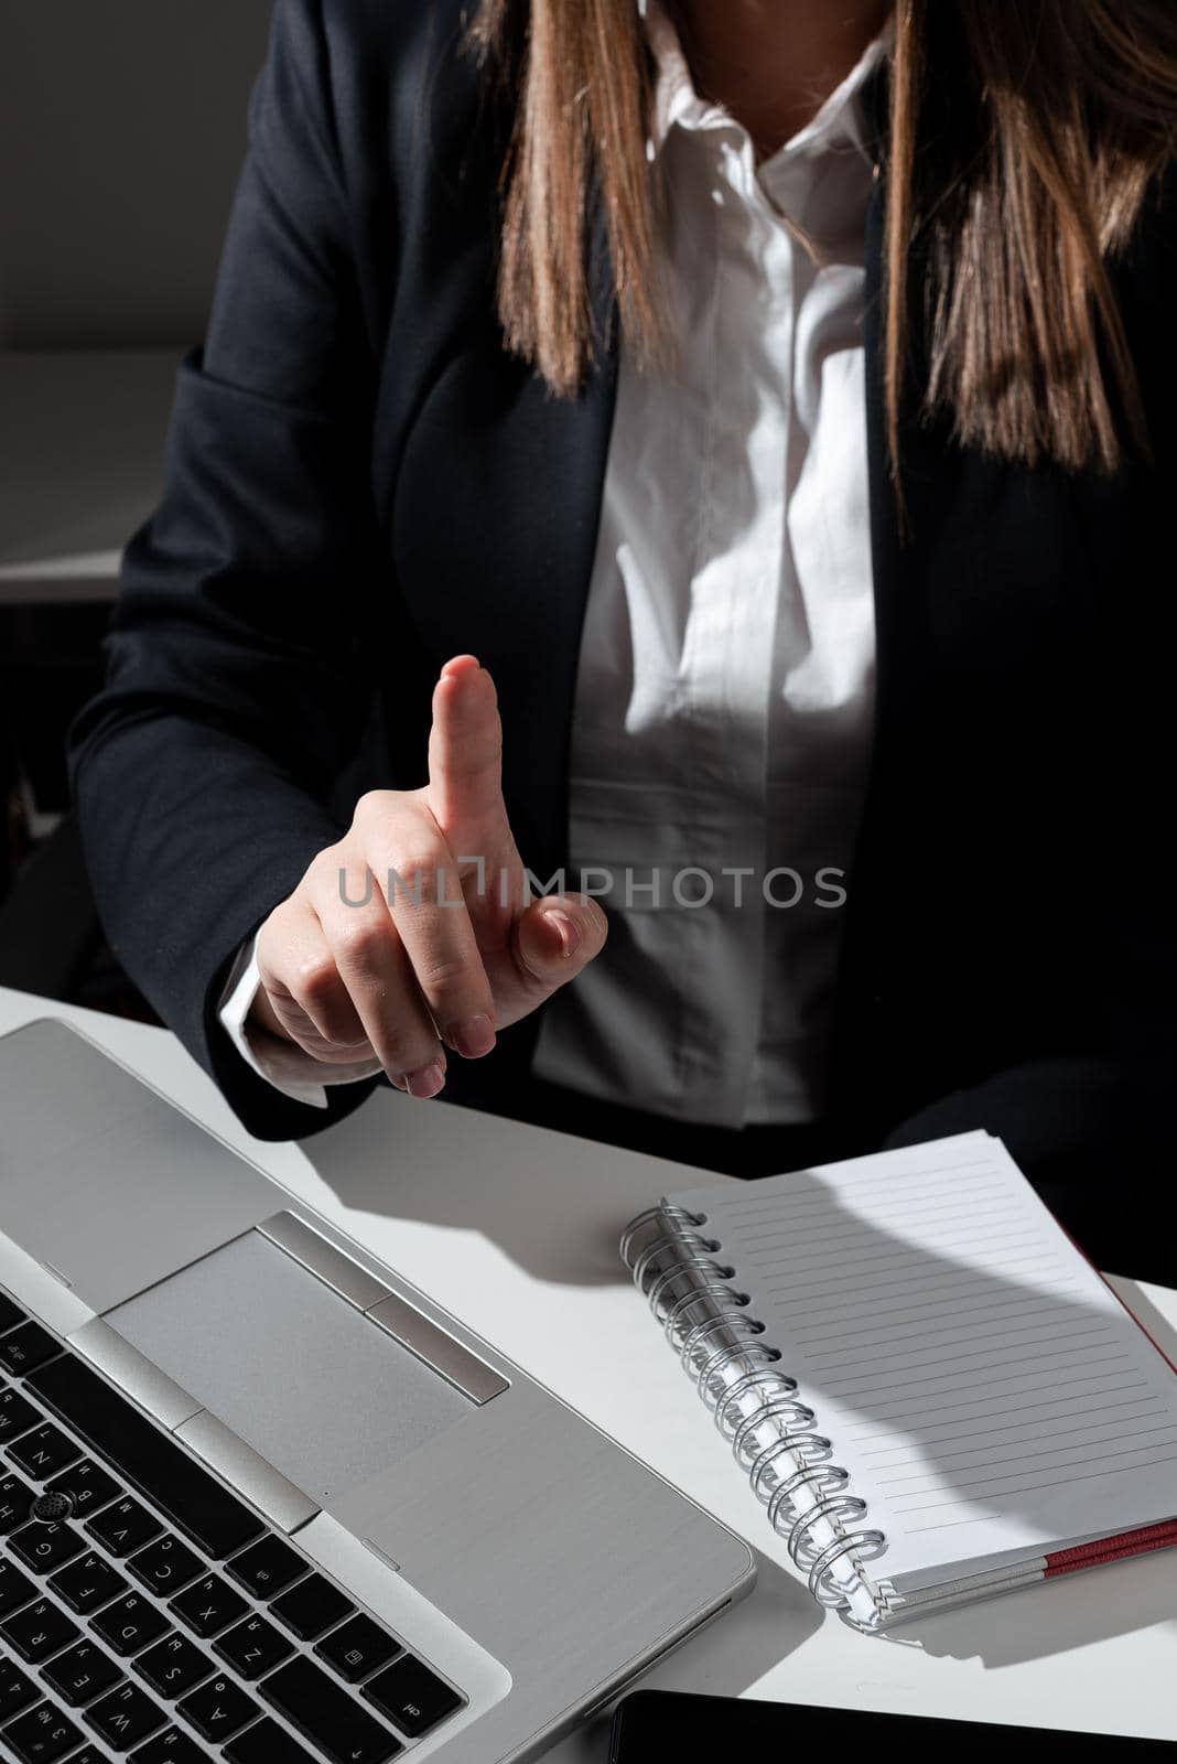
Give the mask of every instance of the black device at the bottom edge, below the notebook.
[{"label": "black device at the bottom edge, below the notebook", "polygon": [[999,1746],[1003,1757],[1057,1759],[1059,1764],[1121,1757],[1126,1764],[1173,1764],[1177,1759],[1177,1743],[1168,1739],[638,1690],[613,1715],[610,1764],[661,1764],[663,1759],[675,1764],[747,1759],[754,1764],[786,1755],[816,1757],[818,1746],[830,1757],[855,1757],[856,1746],[870,1746],[885,1757],[948,1760],[960,1757],[962,1746],[964,1757],[971,1757],[981,1745]]}]

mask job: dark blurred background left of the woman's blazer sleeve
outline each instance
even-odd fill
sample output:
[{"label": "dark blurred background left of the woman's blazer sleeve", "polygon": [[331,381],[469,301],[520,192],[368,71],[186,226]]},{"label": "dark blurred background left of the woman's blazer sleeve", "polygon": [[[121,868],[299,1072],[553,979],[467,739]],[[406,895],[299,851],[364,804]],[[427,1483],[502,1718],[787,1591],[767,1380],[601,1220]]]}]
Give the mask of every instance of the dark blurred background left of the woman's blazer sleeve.
[{"label": "dark blurred background left of the woman's blazer sleeve", "polygon": [[[159,494],[270,11],[0,0],[0,984],[130,1014],[148,1013],[100,942],[62,743],[99,679],[111,552]],[[99,550],[102,580],[78,564]],[[53,582],[28,568],[46,559]]]}]

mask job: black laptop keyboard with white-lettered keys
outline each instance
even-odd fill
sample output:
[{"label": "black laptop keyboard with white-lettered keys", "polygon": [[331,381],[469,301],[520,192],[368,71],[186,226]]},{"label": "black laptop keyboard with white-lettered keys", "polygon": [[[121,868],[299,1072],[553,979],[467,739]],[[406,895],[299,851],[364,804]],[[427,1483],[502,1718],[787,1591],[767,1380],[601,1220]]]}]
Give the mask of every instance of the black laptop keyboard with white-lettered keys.
[{"label": "black laptop keyboard with white-lettered keys", "polygon": [[0,1293],[0,1750],[384,1764],[463,1704]]}]

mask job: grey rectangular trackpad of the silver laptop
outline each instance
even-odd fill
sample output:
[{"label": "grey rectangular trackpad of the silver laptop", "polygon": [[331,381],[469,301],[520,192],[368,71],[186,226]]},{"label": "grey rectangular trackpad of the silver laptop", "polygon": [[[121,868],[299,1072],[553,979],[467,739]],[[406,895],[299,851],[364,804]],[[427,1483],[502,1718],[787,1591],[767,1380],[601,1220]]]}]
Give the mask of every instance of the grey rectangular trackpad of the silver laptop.
[{"label": "grey rectangular trackpad of the silver laptop", "polygon": [[474,1408],[257,1231],[106,1321],[322,1506]]}]

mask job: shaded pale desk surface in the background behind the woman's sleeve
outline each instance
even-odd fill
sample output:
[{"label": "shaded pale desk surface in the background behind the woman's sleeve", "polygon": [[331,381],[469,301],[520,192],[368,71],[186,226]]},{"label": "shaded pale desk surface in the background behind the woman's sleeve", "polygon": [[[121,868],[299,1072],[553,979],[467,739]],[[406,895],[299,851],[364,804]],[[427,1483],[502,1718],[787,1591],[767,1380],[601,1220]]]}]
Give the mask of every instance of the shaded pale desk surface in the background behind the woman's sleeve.
[{"label": "shaded pale desk surface in the background behind the woman's sleeve", "polygon": [[178,349],[0,353],[0,605],[113,600],[155,508]]}]

